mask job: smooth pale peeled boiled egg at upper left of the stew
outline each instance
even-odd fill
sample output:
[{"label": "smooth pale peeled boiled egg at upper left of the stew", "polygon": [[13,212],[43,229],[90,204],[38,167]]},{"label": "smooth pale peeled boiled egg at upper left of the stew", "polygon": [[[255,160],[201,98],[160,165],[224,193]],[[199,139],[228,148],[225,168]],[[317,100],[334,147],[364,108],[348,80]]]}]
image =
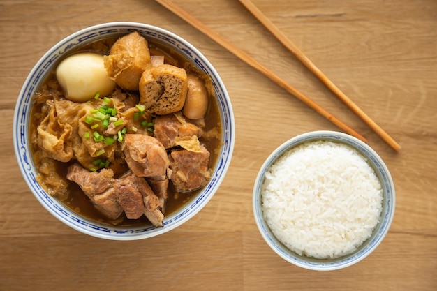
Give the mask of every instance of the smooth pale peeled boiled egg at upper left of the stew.
[{"label": "smooth pale peeled boiled egg at upper left of the stew", "polygon": [[97,93],[107,96],[115,87],[103,64],[103,56],[93,52],[73,54],[61,61],[56,77],[66,98],[77,103],[86,102]]}]

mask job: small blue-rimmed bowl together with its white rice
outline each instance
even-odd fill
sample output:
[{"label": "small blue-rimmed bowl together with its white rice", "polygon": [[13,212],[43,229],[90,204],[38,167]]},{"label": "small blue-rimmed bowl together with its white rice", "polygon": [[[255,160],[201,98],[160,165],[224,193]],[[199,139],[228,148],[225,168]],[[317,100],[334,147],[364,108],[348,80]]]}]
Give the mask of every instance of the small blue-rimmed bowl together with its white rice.
[{"label": "small blue-rimmed bowl together with its white rice", "polygon": [[272,250],[305,269],[342,269],[370,255],[394,216],[390,172],[369,145],[334,131],[284,142],[253,188],[255,222]]}]

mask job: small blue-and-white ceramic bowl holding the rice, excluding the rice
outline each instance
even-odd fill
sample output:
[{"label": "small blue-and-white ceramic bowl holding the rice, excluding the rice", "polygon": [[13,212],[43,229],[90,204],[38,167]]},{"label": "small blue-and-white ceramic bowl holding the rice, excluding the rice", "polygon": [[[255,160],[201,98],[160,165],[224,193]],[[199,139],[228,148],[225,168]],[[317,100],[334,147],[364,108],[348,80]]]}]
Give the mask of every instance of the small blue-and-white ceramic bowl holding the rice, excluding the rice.
[{"label": "small blue-and-white ceramic bowl holding the rice, excluding the rice", "polygon": [[[383,186],[383,210],[380,214],[380,221],[373,230],[373,234],[369,239],[364,241],[362,246],[357,248],[354,253],[336,259],[319,260],[315,258],[309,258],[304,255],[298,255],[297,253],[290,251],[290,249],[284,246],[281,241],[274,237],[274,234],[267,226],[261,209],[262,184],[265,180],[265,173],[269,167],[274,163],[274,161],[276,161],[277,158],[282,156],[292,147],[296,147],[304,142],[313,142],[316,140],[341,142],[356,149],[358,152],[360,152],[360,154],[362,154],[362,156],[368,159],[369,165],[371,165],[373,170],[375,170],[376,175],[380,179],[381,185]],[[383,241],[385,234],[387,234],[390,228],[394,216],[394,204],[395,194],[393,180],[389,170],[387,169],[387,166],[380,156],[378,156],[378,154],[376,154],[371,147],[357,138],[333,131],[315,131],[311,133],[304,133],[281,144],[281,146],[275,149],[262,165],[260,171],[258,172],[258,177],[255,180],[255,185],[253,188],[253,212],[255,221],[258,226],[258,230],[270,248],[272,248],[272,250],[281,258],[292,264],[305,269],[318,271],[342,269],[355,264],[366,258],[367,255],[370,255],[370,253],[376,249],[381,241]]]}]

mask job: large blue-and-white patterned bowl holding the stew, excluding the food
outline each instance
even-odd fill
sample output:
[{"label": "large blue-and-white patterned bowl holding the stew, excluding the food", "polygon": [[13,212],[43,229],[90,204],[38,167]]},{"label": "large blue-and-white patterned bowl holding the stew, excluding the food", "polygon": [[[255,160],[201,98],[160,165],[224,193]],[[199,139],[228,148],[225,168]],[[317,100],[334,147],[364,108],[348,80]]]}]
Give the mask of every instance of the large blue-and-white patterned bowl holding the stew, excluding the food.
[{"label": "large blue-and-white patterned bowl holding the stew, excluding the food", "polygon": [[[149,40],[172,48],[182,54],[186,59],[190,60],[200,70],[207,73],[212,78],[214,85],[215,96],[221,114],[223,125],[222,143],[217,163],[213,168],[212,178],[209,184],[203,188],[198,195],[193,197],[191,202],[186,204],[182,209],[174,214],[165,217],[163,227],[154,227],[153,225],[142,225],[140,227],[111,227],[90,221],[79,214],[71,211],[64,204],[59,202],[54,197],[50,197],[36,181],[36,169],[32,161],[29,147],[29,116],[32,106],[32,96],[40,87],[40,85],[50,73],[50,70],[57,66],[59,60],[71,50],[75,50],[81,45],[100,40],[102,38],[123,36],[131,31],[139,31],[142,36]],[[54,45],[43,57],[36,63],[34,68],[29,73],[26,81],[23,84],[20,95],[17,98],[15,105],[15,114],[13,119],[13,142],[15,147],[15,155],[17,156],[18,165],[27,182],[31,192],[34,193],[40,204],[47,209],[54,217],[66,225],[73,227],[75,230],[89,234],[94,237],[114,240],[133,240],[145,239],[154,237],[158,234],[163,234],[169,230],[182,225],[192,218],[195,214],[205,207],[214,193],[220,186],[225,173],[230,165],[232,152],[235,143],[235,121],[232,112],[232,105],[228,92],[225,89],[220,76],[209,63],[207,58],[199,52],[193,45],[188,43],[180,36],[175,35],[170,31],[154,27],[148,24],[135,22],[111,22],[98,24],[93,27],[87,27],[77,31],[71,36],[68,36]]]}]

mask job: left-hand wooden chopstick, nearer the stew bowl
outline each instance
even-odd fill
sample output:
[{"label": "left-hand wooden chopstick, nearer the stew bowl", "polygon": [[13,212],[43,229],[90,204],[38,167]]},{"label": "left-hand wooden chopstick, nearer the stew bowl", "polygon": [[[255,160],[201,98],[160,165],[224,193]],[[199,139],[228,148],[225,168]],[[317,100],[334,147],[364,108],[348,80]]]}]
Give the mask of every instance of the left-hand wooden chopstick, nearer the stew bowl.
[{"label": "left-hand wooden chopstick, nearer the stew bowl", "polygon": [[237,46],[233,45],[228,40],[225,40],[225,38],[221,37],[214,31],[212,31],[212,29],[209,29],[209,27],[206,27],[205,24],[202,24],[202,22],[195,19],[195,17],[188,14],[185,10],[177,6],[175,3],[172,3],[172,1],[169,0],[156,0],[156,1],[160,3],[162,6],[164,6],[165,8],[168,8],[168,10],[172,11],[172,13],[175,13],[175,15],[181,17],[183,20],[191,24],[193,27],[204,33],[206,36],[216,41],[216,43],[224,47],[226,50],[228,50],[232,54],[235,54],[236,57],[242,59],[242,61],[246,62],[246,64],[258,70],[260,73],[262,73],[270,80],[278,84],[280,87],[288,91],[288,93],[292,94],[293,96],[301,100],[303,103],[305,103],[313,110],[318,112],[318,114],[325,117],[327,120],[331,121],[332,124],[335,124],[337,127],[341,128],[349,135],[353,135],[354,137],[357,137],[363,142],[366,142],[366,138],[360,135],[360,133],[357,133],[355,130],[353,130],[353,128],[350,128],[348,125],[344,124],[343,121],[334,117],[334,115],[327,112],[327,110],[325,110],[323,107],[320,107],[320,105],[315,103],[313,100],[306,97],[301,92],[297,91],[297,89],[291,87],[280,77],[272,73],[269,69],[265,68],[265,66],[262,66],[262,64],[258,63],[258,61],[255,61],[255,59],[250,57],[249,54],[246,54],[245,52],[240,50]]}]

